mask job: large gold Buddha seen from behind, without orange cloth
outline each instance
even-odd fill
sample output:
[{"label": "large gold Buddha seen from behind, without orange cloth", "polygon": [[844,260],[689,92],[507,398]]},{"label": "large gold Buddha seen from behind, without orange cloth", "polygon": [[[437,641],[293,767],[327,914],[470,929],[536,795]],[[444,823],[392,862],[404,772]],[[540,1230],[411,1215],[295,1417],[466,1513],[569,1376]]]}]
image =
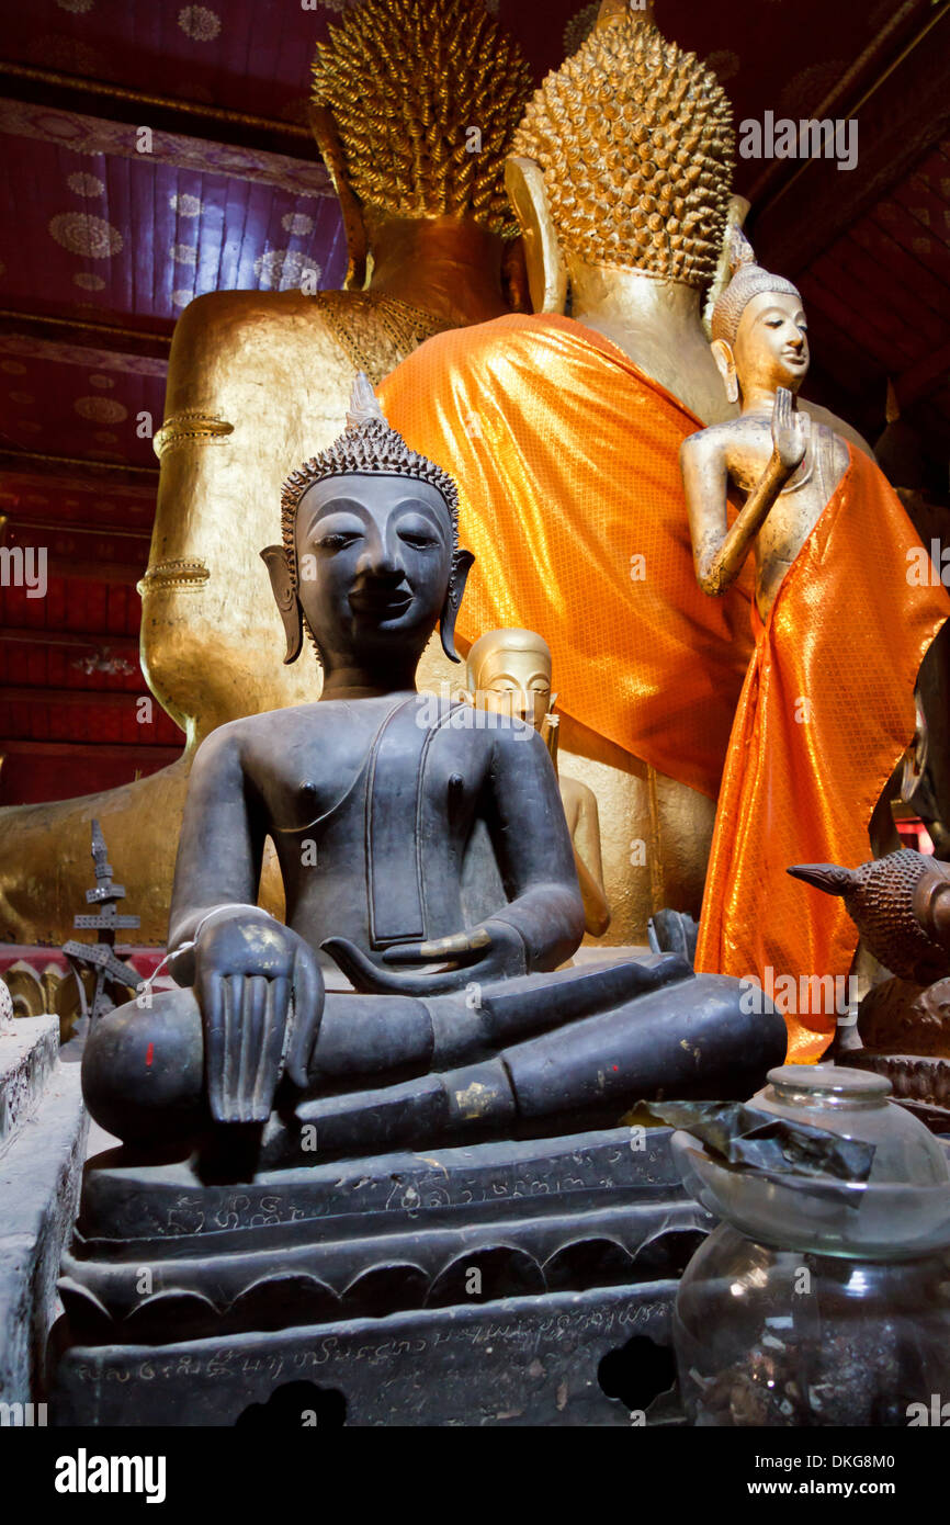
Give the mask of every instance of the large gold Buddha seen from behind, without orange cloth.
[{"label": "large gold Buddha seen from behind, without orange cloth", "polygon": [[[366,0],[329,29],[313,73],[346,290],[213,291],[185,310],[172,340],[142,666],[185,729],[185,753],[124,788],[0,813],[3,939],[69,936],[93,816],[142,941],[165,938],[198,743],[319,695],[313,666],[267,656],[278,625],[258,551],[284,477],[340,433],[357,371],[378,380],[427,336],[509,311],[503,273],[518,227],[503,159],[531,87],[518,46],[473,0]],[[273,859],[262,903],[282,904]]]}]

